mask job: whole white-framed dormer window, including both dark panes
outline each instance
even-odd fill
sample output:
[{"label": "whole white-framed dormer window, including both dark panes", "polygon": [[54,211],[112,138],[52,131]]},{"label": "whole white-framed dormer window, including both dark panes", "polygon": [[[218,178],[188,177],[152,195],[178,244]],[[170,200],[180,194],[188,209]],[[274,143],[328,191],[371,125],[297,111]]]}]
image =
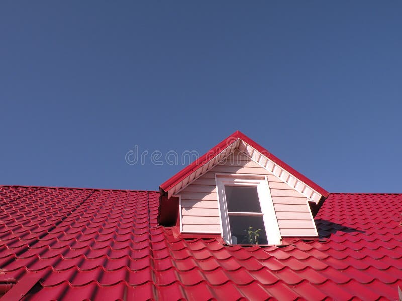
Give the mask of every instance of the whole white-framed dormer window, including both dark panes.
[{"label": "whole white-framed dormer window, including both dark panes", "polygon": [[216,174],[222,232],[228,244],[279,244],[268,181],[261,175]]}]

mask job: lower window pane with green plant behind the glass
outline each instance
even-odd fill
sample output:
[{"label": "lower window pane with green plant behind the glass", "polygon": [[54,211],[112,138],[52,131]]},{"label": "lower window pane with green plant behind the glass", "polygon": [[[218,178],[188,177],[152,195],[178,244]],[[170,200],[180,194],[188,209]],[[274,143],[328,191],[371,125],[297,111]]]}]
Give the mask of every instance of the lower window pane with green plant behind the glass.
[{"label": "lower window pane with green plant behind the glass", "polygon": [[262,216],[229,215],[229,224],[233,244],[268,244]]}]

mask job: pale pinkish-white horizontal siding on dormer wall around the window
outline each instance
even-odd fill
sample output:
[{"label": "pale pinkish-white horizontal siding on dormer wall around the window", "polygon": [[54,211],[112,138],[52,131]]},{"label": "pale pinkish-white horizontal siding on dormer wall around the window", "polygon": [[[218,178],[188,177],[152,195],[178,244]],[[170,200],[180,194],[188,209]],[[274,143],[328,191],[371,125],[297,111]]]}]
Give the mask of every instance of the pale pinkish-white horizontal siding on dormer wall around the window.
[{"label": "pale pinkish-white horizontal siding on dormer wall around the window", "polygon": [[179,193],[183,232],[221,232],[215,173],[267,175],[281,235],[317,235],[308,198],[282,180],[289,175],[275,176],[238,150]]}]

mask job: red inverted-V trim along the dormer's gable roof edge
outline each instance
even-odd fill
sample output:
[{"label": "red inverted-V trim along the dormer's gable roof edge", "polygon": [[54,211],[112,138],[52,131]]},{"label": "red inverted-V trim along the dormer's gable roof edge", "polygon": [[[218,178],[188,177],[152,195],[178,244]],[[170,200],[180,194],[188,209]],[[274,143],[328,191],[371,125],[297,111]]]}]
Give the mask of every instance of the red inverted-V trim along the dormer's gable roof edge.
[{"label": "red inverted-V trim along the dormer's gable roof edge", "polygon": [[310,179],[308,179],[306,176],[303,174],[299,173],[295,169],[293,169],[290,165],[286,164],[276,156],[272,155],[268,150],[266,150],[264,147],[259,145],[258,143],[254,142],[251,140],[249,137],[247,137],[245,134],[241,133],[240,131],[236,131],[233,134],[231,134],[229,137],[227,137],[225,140],[220,142],[218,145],[215,147],[211,148],[207,153],[205,153],[203,156],[199,157],[197,160],[195,160],[193,163],[191,163],[189,166],[185,167],[181,171],[179,171],[177,174],[175,174],[173,177],[162,183],[159,188],[161,192],[167,192],[171,188],[173,188],[175,185],[180,183],[182,180],[184,180],[187,176],[189,176],[192,172],[197,170],[198,168],[202,167],[204,164],[208,163],[210,160],[214,159],[222,150],[224,150],[226,147],[228,147],[230,144],[235,142],[237,139],[241,139],[256,150],[263,154],[264,156],[268,157],[270,160],[272,160],[274,163],[279,165],[280,167],[284,168],[287,170],[290,174],[298,178],[300,181],[303,181],[306,185],[310,186],[312,189],[316,190],[318,193],[323,195],[325,198],[328,197],[329,192],[326,191],[324,188],[321,186],[317,185]]}]

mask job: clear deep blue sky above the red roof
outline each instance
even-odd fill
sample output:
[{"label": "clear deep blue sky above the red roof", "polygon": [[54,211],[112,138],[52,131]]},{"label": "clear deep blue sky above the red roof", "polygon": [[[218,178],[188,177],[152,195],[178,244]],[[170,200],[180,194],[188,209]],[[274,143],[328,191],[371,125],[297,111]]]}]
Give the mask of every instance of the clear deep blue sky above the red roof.
[{"label": "clear deep blue sky above the red roof", "polygon": [[330,192],[402,192],[402,4],[2,2],[0,184],[158,189],[240,130]]}]

